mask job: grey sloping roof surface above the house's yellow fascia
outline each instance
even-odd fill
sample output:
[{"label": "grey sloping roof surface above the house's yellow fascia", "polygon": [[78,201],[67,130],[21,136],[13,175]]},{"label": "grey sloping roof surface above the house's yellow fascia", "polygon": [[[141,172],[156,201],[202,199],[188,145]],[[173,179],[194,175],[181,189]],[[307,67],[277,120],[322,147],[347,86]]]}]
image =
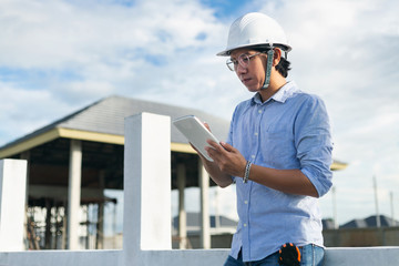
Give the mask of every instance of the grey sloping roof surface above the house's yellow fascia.
[{"label": "grey sloping roof surface above the house's yellow fascia", "polygon": [[[78,133],[74,134],[78,136],[79,134],[85,133],[95,133],[95,134],[106,134],[106,136],[122,136],[124,135],[124,119],[139,113],[154,113],[171,116],[172,121],[176,117],[193,114],[198,119],[206,121],[209,123],[212,127],[212,132],[219,140],[225,140],[228,132],[229,122],[227,120],[217,117],[215,115],[208,114],[203,111],[174,106],[163,103],[155,103],[150,101],[129,99],[119,95],[112,95],[105,99],[101,99],[93,104],[85,106],[65,117],[62,117],[44,127],[41,127],[25,136],[17,139],[13,142],[10,142],[2,147],[0,147],[0,157],[10,156],[14,153],[22,152],[22,150],[29,150],[35,144],[28,145],[27,147],[20,147],[14,151],[11,151],[10,147],[22,145],[22,143],[32,140],[33,137],[39,137],[44,135],[45,133],[50,133],[53,130],[60,131],[60,129],[73,130]],[[55,133],[54,133],[55,134]],[[57,137],[69,137],[74,139],[73,136],[61,135],[61,133],[57,133],[48,136],[47,140],[38,141],[38,144],[42,144],[50,139]],[[54,135],[54,136],[53,136]],[[71,135],[71,134],[70,134]],[[84,140],[88,141],[99,141],[91,140],[92,135],[88,135]],[[79,137],[79,136],[78,136]],[[171,141],[172,143],[182,143],[187,144],[186,139],[181,134],[173,125],[171,125]],[[113,141],[109,141],[113,142]],[[122,141],[123,142],[123,141]],[[114,142],[116,143],[116,142]],[[121,144],[121,143],[120,143]],[[9,150],[9,152],[6,152]],[[1,153],[2,152],[2,153]]]}]

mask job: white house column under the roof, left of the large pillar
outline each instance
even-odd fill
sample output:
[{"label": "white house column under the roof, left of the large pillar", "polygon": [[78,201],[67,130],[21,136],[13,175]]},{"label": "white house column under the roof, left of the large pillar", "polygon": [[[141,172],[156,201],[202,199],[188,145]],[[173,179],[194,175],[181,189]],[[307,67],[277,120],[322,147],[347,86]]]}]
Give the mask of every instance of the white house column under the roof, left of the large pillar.
[{"label": "white house column under the roof, left of the large pillar", "polygon": [[68,248],[79,249],[79,213],[82,180],[82,143],[71,140],[68,187]]}]

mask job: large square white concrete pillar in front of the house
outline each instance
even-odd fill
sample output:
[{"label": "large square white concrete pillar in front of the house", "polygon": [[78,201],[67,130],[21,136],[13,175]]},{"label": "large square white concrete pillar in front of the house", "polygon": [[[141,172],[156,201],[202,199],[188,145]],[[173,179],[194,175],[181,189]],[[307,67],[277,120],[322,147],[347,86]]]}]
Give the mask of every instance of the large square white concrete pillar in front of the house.
[{"label": "large square white concrete pillar in front of the house", "polygon": [[141,113],[125,119],[123,186],[124,263],[141,265],[141,250],[172,249],[168,116]]}]

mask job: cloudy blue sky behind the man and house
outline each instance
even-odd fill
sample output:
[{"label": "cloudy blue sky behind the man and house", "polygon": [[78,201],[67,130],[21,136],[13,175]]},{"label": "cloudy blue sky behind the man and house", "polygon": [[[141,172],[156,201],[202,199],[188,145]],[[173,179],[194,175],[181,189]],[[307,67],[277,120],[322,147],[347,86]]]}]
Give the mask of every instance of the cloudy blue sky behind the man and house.
[{"label": "cloudy blue sky behind the man and house", "polygon": [[[338,222],[374,214],[372,175],[381,213],[391,215],[391,193],[399,202],[397,1],[2,0],[0,10],[0,145],[111,94],[228,120],[252,94],[215,54],[236,17],[260,11],[285,29],[288,80],[325,100],[334,156],[349,163],[334,180]],[[234,216],[234,192],[218,194]],[[325,217],[331,202],[320,200]]]}]

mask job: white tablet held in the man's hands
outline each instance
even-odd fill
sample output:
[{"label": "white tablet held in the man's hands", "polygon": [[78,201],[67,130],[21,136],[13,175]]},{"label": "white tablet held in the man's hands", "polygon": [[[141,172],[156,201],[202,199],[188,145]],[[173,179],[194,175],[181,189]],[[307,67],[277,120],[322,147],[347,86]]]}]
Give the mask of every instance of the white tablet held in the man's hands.
[{"label": "white tablet held in the man's hands", "polygon": [[207,155],[205,146],[209,146],[207,140],[213,140],[216,143],[219,141],[205,127],[205,125],[194,115],[186,115],[175,119],[173,124],[180,132],[188,140],[193,146],[204,156],[206,160],[213,162]]}]

